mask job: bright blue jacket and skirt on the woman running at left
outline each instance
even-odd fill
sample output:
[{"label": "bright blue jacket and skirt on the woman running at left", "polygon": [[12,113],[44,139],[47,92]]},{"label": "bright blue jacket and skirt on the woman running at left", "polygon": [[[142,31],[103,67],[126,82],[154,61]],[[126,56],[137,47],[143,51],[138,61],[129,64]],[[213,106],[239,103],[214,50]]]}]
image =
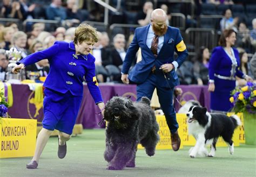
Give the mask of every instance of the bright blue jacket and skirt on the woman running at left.
[{"label": "bright blue jacket and skirt on the woman running at left", "polygon": [[43,128],[72,134],[83,97],[83,79],[95,103],[103,102],[95,76],[95,58],[76,55],[75,44],[56,41],[43,50],[19,61],[25,66],[48,59],[50,72],[44,82]]}]

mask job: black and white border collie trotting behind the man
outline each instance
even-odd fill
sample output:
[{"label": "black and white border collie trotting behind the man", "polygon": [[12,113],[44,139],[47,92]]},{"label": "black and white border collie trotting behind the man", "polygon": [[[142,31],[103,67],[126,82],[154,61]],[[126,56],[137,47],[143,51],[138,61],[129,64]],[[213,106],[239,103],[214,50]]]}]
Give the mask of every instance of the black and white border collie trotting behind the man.
[{"label": "black and white border collie trotting behind the man", "polygon": [[[188,133],[197,140],[196,145],[190,150],[190,157],[208,155],[214,157],[218,137],[223,137],[228,144],[228,151],[234,153],[232,136],[235,128],[241,125],[240,118],[236,115],[228,117],[225,114],[209,113],[206,108],[192,106],[187,113]],[[211,145],[208,153],[206,145]]]}]

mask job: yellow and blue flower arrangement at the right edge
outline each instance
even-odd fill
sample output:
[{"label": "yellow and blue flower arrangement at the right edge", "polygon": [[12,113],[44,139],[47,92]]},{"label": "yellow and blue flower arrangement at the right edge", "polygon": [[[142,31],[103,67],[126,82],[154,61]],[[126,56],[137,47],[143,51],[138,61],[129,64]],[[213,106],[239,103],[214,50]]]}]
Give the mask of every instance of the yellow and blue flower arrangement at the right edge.
[{"label": "yellow and blue flower arrangement at the right edge", "polygon": [[256,114],[256,85],[247,82],[246,86],[236,87],[231,92],[230,102],[233,103],[233,111]]}]

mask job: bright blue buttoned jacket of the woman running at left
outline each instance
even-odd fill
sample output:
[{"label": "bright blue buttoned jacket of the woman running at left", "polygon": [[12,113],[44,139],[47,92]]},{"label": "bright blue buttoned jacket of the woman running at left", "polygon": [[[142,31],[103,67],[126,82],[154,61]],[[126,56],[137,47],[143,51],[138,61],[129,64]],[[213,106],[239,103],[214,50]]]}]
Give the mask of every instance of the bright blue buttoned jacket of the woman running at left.
[{"label": "bright blue buttoned jacket of the woman running at left", "polygon": [[95,76],[95,58],[88,54],[75,55],[73,42],[56,41],[55,44],[43,51],[33,53],[20,60],[25,66],[48,59],[50,72],[44,82],[44,87],[72,95],[83,96],[83,77],[87,82],[95,103],[103,102]]}]

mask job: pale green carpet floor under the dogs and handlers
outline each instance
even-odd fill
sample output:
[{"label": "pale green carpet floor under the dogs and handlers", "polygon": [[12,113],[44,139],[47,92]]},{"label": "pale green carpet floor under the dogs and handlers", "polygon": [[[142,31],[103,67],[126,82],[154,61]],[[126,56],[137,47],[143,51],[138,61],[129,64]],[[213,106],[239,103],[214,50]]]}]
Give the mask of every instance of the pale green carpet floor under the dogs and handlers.
[{"label": "pale green carpet floor under the dogs and handlers", "polygon": [[84,130],[67,143],[64,159],[57,157],[57,137],[46,145],[37,169],[26,169],[31,158],[0,159],[0,176],[256,176],[256,146],[240,145],[234,155],[227,147],[217,147],[214,158],[195,158],[188,155],[190,147],[178,152],[157,150],[148,157],[138,150],[136,168],[123,171],[106,170],[104,160],[105,131]]}]

